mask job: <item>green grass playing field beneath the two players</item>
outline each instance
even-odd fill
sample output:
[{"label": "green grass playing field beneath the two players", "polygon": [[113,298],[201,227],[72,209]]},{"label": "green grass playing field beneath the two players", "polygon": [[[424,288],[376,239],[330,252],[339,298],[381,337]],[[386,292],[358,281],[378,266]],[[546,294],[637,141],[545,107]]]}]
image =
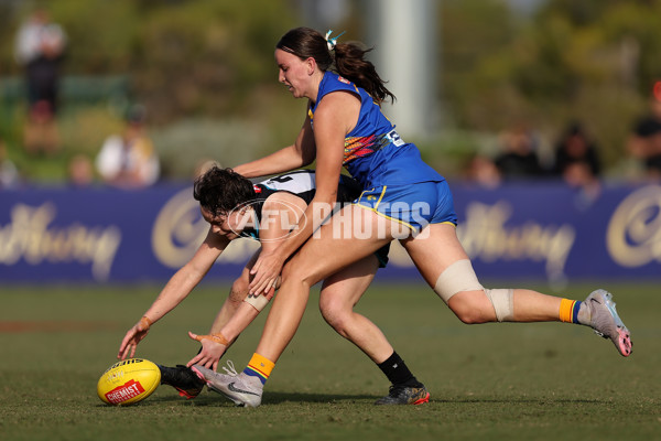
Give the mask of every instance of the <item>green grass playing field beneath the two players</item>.
[{"label": "green grass playing field beneath the two players", "polygon": [[[432,394],[397,408],[372,406],[387,380],[325,324],[313,291],[260,408],[210,391],[187,401],[167,386],[137,406],[106,406],[96,383],[159,288],[0,288],[0,440],[661,440],[659,286],[604,287],[635,341],[624,358],[583,326],[468,326],[422,286],[376,284],[358,310]],[[571,287],[574,298],[589,290]],[[207,331],[226,292],[198,288],[138,355],[188,361],[197,344],[186,331]],[[239,370],[263,319],[226,356]]]}]

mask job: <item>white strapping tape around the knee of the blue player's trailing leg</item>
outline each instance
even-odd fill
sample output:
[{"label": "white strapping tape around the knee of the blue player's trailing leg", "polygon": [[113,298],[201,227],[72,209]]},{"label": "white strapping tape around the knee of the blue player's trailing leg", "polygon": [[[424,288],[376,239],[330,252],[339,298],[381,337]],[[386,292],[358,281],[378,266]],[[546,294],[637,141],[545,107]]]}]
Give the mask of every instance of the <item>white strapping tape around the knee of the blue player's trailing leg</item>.
[{"label": "white strapping tape around the knee of the blue player's trailing leg", "polygon": [[445,303],[462,291],[483,290],[496,311],[499,322],[510,322],[514,319],[513,290],[511,289],[485,289],[477,280],[470,260],[457,260],[445,269],[436,280],[434,292]]}]

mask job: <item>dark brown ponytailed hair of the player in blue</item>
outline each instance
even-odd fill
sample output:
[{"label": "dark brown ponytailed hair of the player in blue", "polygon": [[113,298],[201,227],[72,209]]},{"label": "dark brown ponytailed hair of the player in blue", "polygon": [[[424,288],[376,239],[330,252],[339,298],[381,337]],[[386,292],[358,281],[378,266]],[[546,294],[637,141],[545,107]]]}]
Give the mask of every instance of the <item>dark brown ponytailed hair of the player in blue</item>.
[{"label": "dark brown ponytailed hair of the player in blue", "polygon": [[277,49],[296,55],[301,60],[313,57],[322,71],[334,71],[348,80],[362,87],[379,105],[395,96],[386,88],[373,64],[365,60],[371,49],[362,50],[354,43],[337,43],[328,50],[328,42],[319,32],[310,28],[295,28],[285,33]]}]

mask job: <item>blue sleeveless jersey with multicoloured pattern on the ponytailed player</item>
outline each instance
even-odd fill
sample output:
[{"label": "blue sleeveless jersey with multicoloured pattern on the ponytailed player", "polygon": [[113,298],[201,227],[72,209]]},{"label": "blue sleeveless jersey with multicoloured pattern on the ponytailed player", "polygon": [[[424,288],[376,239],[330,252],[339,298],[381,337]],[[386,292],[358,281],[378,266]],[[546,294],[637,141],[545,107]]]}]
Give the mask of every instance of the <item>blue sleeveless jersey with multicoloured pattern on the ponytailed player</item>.
[{"label": "blue sleeveless jersey with multicoloured pattern on the ponytailed player", "polygon": [[365,89],[335,73],[324,74],[316,101],[311,104],[308,115],[313,129],[316,107],[324,96],[337,90],[350,92],[360,99],[358,122],[345,138],[343,164],[365,189],[444,181],[422,161],[414,144],[400,138],[394,125]]}]

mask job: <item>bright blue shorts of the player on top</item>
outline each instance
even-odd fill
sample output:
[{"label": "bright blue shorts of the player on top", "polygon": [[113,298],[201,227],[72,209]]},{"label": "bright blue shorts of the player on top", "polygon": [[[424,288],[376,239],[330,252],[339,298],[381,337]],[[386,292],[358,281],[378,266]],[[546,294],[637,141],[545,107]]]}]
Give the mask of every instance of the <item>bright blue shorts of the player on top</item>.
[{"label": "bright blue shorts of the player on top", "polygon": [[354,204],[395,219],[414,233],[420,233],[429,224],[457,225],[446,181],[377,186],[364,191]]}]

